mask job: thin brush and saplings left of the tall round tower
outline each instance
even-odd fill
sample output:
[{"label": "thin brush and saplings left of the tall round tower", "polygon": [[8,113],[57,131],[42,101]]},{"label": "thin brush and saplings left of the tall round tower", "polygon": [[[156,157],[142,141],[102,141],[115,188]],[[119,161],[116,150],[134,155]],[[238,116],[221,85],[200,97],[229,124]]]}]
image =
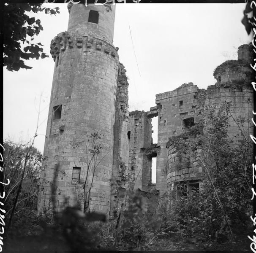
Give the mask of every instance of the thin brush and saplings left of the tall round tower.
[{"label": "thin brush and saplings left of the tall round tower", "polygon": [[[4,186],[5,221],[7,224],[9,223],[18,195],[14,218],[12,224],[9,224],[12,226],[11,234],[22,232],[30,234],[35,226],[39,176],[43,157],[36,148],[30,148],[24,143],[7,140],[4,143],[4,148],[4,177],[10,179],[10,184]],[[22,178],[22,188],[18,194]]]}]

